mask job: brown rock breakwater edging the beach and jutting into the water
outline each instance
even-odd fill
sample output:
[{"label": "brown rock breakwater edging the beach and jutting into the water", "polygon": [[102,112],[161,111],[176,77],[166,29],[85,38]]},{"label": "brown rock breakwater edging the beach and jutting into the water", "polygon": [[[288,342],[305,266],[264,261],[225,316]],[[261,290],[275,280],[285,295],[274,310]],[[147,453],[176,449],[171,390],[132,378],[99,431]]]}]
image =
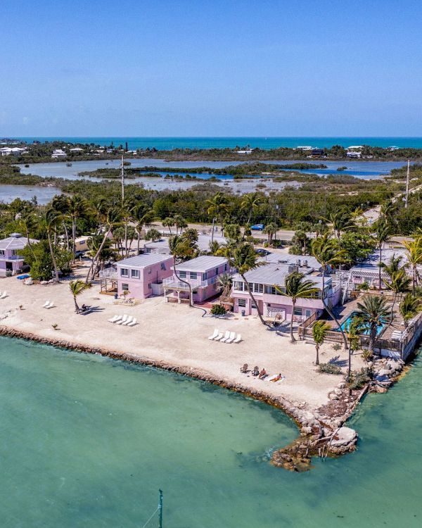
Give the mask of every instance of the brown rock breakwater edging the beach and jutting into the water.
[{"label": "brown rock breakwater edging the beach and jutting into the water", "polygon": [[328,394],[328,403],[316,410],[309,410],[306,402],[290,402],[286,398],[273,397],[241,384],[217,379],[208,372],[193,369],[193,367],[175,366],[165,361],[151,360],[143,356],[136,356],[106,348],[95,348],[81,345],[63,339],[41,337],[30,332],[23,332],[0,325],[0,335],[37,341],[58,348],[65,348],[82,353],[92,353],[113,359],[139,363],[149,367],[157,367],[170,372],[200,379],[202,381],[222,386],[246,396],[263,401],[271,406],[280,408],[296,422],[300,429],[300,436],[292,444],[274,451],[271,463],[291,471],[308,470],[312,456],[326,457],[327,455],[341,455],[354,451],[357,444],[357,432],[344,423],[352,414],[354,408],[366,391],[384,392],[397,379],[404,362],[401,360],[376,360],[373,362],[374,376],[370,384],[359,391],[349,391],[345,382],[340,382],[336,389]]}]

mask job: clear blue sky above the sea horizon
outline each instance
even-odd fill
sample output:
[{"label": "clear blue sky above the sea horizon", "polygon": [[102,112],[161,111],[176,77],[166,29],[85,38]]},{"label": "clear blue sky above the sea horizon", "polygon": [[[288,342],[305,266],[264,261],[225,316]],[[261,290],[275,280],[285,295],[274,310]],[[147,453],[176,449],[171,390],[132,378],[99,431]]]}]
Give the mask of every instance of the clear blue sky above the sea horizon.
[{"label": "clear blue sky above the sea horizon", "polygon": [[422,136],[422,2],[15,0],[0,137]]}]

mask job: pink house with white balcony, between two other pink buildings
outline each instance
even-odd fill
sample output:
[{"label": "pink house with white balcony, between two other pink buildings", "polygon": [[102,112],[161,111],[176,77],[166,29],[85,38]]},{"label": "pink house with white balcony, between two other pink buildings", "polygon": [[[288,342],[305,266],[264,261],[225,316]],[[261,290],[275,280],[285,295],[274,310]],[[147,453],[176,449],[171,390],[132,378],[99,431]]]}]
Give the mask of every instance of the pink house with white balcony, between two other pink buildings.
[{"label": "pink house with white balcony, between two other pink buildings", "polygon": [[230,272],[229,263],[224,257],[201,256],[192,258],[184,263],[176,265],[177,275],[184,282],[180,281],[176,275],[173,275],[162,281],[164,295],[172,294],[181,299],[188,299],[189,287],[191,285],[193,301],[202,303],[207,298],[215,296],[221,291],[218,284],[218,278],[224,273]]}]

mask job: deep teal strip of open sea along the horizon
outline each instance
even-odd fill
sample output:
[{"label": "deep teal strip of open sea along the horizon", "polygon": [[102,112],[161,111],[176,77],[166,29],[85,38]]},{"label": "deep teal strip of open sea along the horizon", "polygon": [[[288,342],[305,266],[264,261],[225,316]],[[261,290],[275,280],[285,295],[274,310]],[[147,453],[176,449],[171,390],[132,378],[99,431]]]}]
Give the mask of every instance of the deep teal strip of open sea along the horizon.
[{"label": "deep teal strip of open sea along the horizon", "polygon": [[422,137],[20,137],[27,142],[65,141],[70,143],[94,143],[114,145],[127,142],[129,149],[234,149],[250,145],[252,148],[276,149],[285,146],[314,146],[319,149],[333,145],[398,146],[422,149]]}]

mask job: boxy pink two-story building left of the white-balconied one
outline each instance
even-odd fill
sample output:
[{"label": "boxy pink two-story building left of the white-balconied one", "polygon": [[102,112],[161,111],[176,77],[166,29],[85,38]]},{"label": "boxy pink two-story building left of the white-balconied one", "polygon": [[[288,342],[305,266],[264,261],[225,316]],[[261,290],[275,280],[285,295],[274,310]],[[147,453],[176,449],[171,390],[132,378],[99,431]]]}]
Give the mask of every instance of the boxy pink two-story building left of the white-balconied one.
[{"label": "boxy pink two-story building left of the white-balconied one", "polygon": [[173,275],[173,257],[146,253],[124,258],[117,263],[117,293],[129,291],[129,297],[147,298],[162,294],[162,281]]}]

